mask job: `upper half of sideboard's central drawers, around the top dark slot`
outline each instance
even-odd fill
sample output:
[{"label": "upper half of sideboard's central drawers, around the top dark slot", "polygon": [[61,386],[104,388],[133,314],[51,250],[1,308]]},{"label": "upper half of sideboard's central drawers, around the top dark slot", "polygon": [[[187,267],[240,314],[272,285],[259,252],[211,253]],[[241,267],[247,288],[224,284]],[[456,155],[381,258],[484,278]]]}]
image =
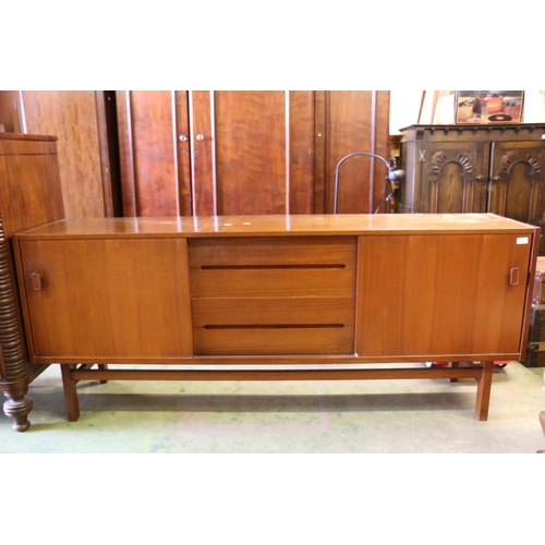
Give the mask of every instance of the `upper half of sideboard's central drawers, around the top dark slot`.
[{"label": "upper half of sideboard's central drawers, around the top dark slot", "polygon": [[192,240],[191,294],[354,296],[355,258],[352,237]]}]

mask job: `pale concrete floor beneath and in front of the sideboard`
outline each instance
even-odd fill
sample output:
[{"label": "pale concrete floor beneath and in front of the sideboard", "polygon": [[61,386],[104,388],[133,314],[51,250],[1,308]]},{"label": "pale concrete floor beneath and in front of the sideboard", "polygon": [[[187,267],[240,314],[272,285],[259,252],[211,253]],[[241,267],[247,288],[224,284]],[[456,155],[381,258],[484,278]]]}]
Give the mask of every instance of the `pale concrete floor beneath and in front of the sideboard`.
[{"label": "pale concrete floor beneath and in front of the sideboard", "polygon": [[27,432],[0,416],[0,452],[535,453],[543,386],[543,368],[497,368],[479,422],[473,379],[82,382],[68,422],[53,365],[31,385]]}]

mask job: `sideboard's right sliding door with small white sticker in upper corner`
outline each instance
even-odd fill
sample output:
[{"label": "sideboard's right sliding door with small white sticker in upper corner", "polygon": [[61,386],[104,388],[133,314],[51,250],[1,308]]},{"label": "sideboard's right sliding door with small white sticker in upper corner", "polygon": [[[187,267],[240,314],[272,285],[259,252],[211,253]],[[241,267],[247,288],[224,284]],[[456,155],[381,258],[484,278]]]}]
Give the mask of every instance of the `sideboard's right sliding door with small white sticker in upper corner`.
[{"label": "sideboard's right sliding door with small white sticker in upper corner", "polygon": [[[516,359],[532,255],[530,241],[517,239],[516,233],[360,238],[358,353]],[[380,282],[387,289],[376,290]]]}]

